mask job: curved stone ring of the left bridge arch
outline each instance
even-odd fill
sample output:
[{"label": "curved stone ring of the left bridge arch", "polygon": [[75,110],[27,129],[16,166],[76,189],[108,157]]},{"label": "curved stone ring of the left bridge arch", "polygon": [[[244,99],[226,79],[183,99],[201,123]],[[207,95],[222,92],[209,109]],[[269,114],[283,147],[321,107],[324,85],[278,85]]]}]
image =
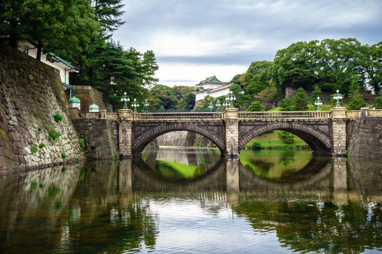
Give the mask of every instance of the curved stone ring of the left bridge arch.
[{"label": "curved stone ring of the left bridge arch", "polygon": [[186,130],[189,132],[198,133],[209,140],[211,140],[219,149],[220,153],[223,155],[225,153],[225,142],[223,137],[220,137],[216,132],[202,125],[196,125],[194,123],[177,123],[177,124],[162,124],[151,128],[138,137],[134,138],[132,153],[138,155],[142,153],[143,149],[152,141],[154,138],[159,137],[167,132],[173,132],[177,130]]}]

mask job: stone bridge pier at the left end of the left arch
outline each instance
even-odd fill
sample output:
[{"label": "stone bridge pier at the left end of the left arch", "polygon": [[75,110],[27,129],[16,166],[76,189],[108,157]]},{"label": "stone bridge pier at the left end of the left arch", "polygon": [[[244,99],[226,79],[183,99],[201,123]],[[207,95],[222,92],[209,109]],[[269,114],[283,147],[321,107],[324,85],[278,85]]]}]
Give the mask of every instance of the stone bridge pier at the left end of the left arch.
[{"label": "stone bridge pier at the left end of the left arch", "polygon": [[132,157],[131,152],[131,141],[132,141],[132,128],[133,121],[131,118],[132,114],[131,109],[118,109],[119,122],[118,122],[118,131],[119,131],[119,153],[120,157]]}]

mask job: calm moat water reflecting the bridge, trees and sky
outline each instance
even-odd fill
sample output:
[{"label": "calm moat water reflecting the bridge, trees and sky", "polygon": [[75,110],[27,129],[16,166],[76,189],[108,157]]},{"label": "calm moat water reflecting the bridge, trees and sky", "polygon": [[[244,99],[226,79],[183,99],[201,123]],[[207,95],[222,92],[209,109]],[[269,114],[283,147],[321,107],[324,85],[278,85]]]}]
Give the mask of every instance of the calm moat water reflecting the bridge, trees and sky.
[{"label": "calm moat water reflecting the bridge, trees and sky", "polygon": [[3,253],[382,252],[382,160],[160,148],[0,176]]}]

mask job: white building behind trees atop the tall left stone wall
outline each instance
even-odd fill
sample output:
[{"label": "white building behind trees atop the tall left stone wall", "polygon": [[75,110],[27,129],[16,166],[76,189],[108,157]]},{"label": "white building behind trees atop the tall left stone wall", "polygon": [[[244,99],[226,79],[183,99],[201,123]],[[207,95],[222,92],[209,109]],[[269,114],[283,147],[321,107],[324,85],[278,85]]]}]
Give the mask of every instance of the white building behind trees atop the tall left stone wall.
[{"label": "white building behind trees atop the tall left stone wall", "polygon": [[[30,42],[27,42],[27,41],[18,42],[18,49],[28,54],[29,56],[32,56],[33,58],[36,58],[37,56],[37,47],[36,45],[33,45]],[[53,63],[47,60],[46,54],[49,54],[54,59]],[[64,87],[64,90],[65,91],[69,90],[68,95],[69,95],[69,98],[71,98],[72,85],[69,84],[69,72],[78,72],[79,67],[72,65],[71,63],[54,55],[53,53],[50,53],[50,52],[46,53],[44,51],[41,52],[41,61],[60,71],[60,78],[61,78],[61,82]]]}]

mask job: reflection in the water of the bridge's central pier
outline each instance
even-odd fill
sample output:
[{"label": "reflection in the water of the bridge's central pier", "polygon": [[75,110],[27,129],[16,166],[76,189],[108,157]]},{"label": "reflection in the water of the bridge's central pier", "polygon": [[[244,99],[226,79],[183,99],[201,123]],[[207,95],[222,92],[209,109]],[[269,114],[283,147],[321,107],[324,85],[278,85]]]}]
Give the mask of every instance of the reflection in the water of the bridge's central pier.
[{"label": "reflection in the water of the bridge's central pier", "polygon": [[227,158],[225,186],[227,202],[231,205],[239,203],[239,158]]}]

